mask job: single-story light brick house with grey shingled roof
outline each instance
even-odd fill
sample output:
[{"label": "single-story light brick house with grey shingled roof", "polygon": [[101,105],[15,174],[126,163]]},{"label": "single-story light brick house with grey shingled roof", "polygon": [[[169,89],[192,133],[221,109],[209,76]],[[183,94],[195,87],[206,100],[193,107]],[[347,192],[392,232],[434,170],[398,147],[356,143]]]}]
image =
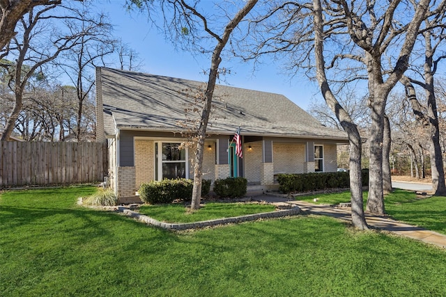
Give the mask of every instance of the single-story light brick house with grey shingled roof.
[{"label": "single-story light brick house with grey shingled roof", "polygon": [[[109,146],[109,181],[120,201],[143,182],[192,178],[187,132],[200,118],[206,83],[153,74],[96,69],[97,141]],[[233,136],[240,126],[243,158]],[[278,173],[335,172],[343,131],[279,94],[216,86],[206,136],[203,178],[245,177],[272,185]]]}]

